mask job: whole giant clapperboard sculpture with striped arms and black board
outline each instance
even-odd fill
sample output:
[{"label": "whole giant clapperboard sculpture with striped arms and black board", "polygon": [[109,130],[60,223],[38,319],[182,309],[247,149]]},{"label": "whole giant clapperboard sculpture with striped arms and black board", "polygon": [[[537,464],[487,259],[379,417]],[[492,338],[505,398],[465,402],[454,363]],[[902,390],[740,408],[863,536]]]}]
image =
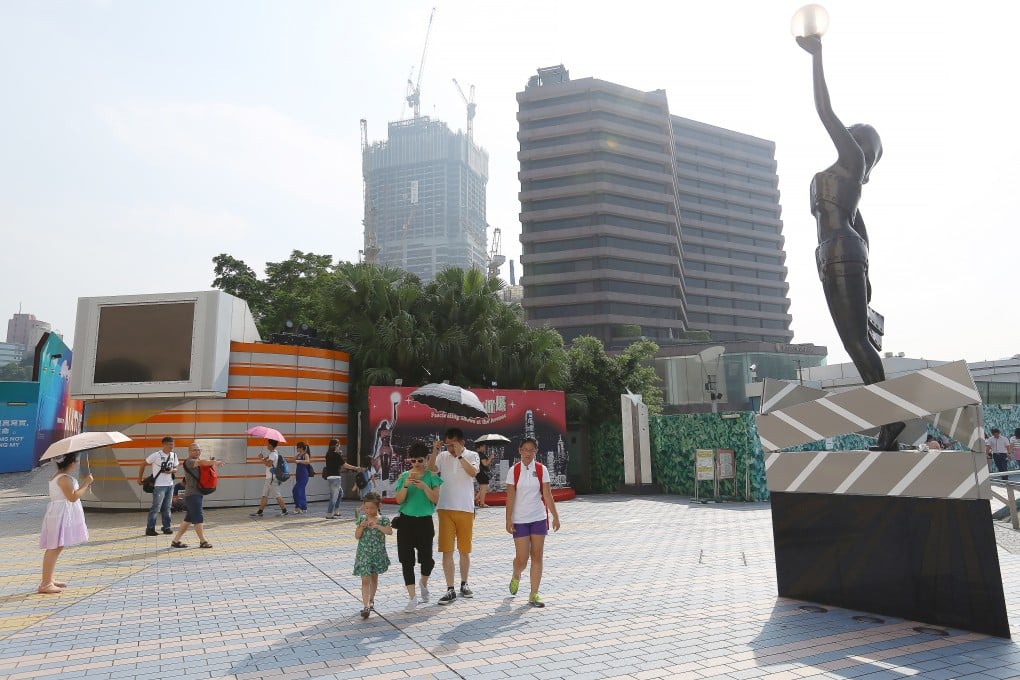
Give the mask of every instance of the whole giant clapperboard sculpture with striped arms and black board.
[{"label": "whole giant clapperboard sculpture with striped arms and black board", "polygon": [[[837,394],[767,383],[779,595],[1010,637],[980,408],[963,361]],[[781,451],[917,419],[970,451]]]}]

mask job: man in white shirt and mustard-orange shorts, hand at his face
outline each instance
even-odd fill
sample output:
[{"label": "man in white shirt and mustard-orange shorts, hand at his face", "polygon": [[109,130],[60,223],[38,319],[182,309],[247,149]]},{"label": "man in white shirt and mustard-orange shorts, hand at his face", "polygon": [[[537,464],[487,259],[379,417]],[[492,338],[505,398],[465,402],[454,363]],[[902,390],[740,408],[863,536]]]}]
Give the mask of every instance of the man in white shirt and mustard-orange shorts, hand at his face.
[{"label": "man in white shirt and mustard-orange shorts, hand at his face", "polygon": [[432,446],[428,469],[439,471],[443,477],[440,487],[440,502],[436,508],[440,517],[439,551],[443,554],[443,573],[447,579],[446,594],[440,597],[440,605],[449,605],[457,599],[454,589],[453,551],[456,541],[460,554],[460,596],[473,597],[467,584],[471,568],[471,535],[474,530],[474,475],[478,474],[478,455],[464,448],[464,432],[459,427],[451,427],[441,442]]}]

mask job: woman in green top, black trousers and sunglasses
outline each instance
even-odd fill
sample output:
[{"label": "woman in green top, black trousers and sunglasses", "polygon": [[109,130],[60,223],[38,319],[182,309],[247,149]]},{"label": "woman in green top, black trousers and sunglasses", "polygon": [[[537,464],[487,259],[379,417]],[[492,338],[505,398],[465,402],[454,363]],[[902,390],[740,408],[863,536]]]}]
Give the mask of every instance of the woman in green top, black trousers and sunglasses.
[{"label": "woman in green top, black trousers and sunglasses", "polygon": [[432,540],[436,538],[436,525],[432,524],[432,513],[440,499],[440,485],[443,480],[425,469],[428,459],[428,446],[424,441],[412,441],[407,448],[407,462],[411,469],[403,472],[397,478],[396,501],[400,506],[400,517],[397,518],[397,559],[400,560],[404,572],[404,585],[407,586],[407,606],[405,612],[413,612],[417,607],[414,593],[414,562],[421,565],[421,601],[428,601],[428,577],[436,568],[432,559]]}]

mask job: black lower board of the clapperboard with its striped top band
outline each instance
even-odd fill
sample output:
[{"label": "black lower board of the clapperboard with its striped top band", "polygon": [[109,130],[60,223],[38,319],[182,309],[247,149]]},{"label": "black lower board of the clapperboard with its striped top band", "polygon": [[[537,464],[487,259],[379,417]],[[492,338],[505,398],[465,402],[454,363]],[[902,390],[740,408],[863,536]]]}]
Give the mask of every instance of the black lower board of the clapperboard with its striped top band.
[{"label": "black lower board of the clapperboard with its striped top band", "polygon": [[983,454],[766,454],[779,594],[1010,637]]}]

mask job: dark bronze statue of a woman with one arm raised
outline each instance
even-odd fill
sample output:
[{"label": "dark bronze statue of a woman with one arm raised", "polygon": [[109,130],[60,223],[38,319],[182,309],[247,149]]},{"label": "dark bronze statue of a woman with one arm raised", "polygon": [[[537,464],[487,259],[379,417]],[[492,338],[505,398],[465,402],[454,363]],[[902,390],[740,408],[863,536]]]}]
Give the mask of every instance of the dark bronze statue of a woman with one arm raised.
[{"label": "dark bronze statue of a woman with one arm raised", "polygon": [[[857,205],[861,188],[882,157],[882,142],[871,125],[846,127],[832,112],[822,69],[821,38],[799,37],[797,44],[812,56],[815,108],[838,152],[835,163],[811,180],[811,213],[818,223],[818,275],[839,339],[864,384],[871,384],[885,379],[878,354],[882,327],[881,317],[869,308],[868,231]],[[897,436],[903,428],[902,422],[883,425],[876,449],[897,451]]]}]

